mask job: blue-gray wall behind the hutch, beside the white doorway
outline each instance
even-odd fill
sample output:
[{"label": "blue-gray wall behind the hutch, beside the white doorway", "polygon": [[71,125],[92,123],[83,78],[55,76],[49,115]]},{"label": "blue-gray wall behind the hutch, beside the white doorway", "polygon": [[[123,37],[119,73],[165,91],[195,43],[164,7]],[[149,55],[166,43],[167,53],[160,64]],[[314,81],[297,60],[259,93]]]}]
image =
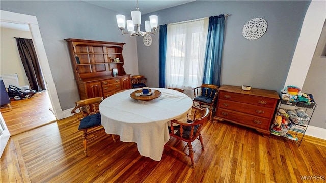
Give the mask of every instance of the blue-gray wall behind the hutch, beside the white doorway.
[{"label": "blue-gray wall behind the hutch, beside the white doorway", "polygon": [[126,43],[124,68],[138,74],[136,39],[121,35],[115,11],[83,1],[1,1],[0,9],[36,16],[63,110],[79,100],[65,38]]}]

